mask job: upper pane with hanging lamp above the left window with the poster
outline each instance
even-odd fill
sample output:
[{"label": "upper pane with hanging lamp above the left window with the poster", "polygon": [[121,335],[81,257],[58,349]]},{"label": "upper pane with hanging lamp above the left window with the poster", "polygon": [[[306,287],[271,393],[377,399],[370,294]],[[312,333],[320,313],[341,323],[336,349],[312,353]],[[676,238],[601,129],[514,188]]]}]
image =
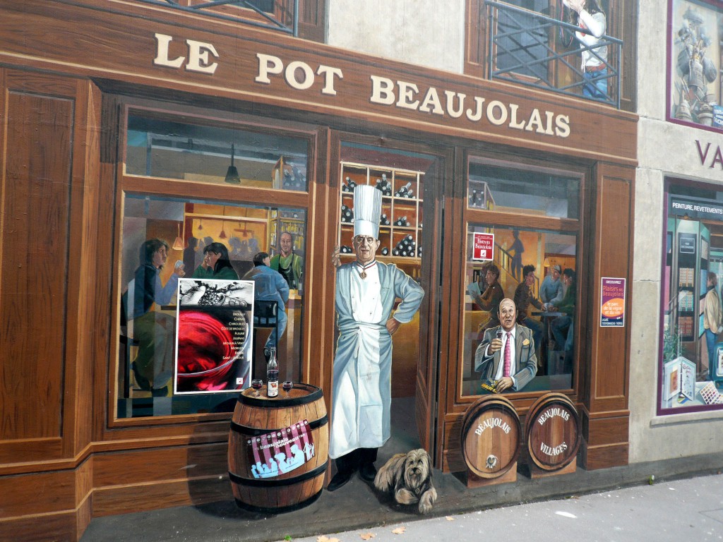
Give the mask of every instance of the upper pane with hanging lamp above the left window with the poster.
[{"label": "upper pane with hanging lamp above the left window with the poster", "polygon": [[132,112],[125,173],[303,192],[307,152],[306,139]]}]

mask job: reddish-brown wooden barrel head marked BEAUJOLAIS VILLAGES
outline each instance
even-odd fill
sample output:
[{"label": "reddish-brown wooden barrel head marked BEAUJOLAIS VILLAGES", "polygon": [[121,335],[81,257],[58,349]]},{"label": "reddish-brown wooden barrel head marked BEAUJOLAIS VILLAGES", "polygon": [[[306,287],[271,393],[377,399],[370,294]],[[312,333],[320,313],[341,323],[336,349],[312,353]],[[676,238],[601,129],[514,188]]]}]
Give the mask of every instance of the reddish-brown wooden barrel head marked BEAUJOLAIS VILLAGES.
[{"label": "reddish-brown wooden barrel head marked BEAUJOLAIS VILLAGES", "polygon": [[530,407],[525,421],[530,460],[542,470],[560,470],[578,455],[580,416],[561,393],[546,393]]}]

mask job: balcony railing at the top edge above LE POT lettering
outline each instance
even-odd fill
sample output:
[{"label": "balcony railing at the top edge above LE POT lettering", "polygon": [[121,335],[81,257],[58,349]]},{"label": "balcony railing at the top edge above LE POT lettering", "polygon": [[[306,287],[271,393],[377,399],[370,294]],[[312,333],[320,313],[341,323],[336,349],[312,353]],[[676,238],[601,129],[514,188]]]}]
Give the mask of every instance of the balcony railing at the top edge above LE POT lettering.
[{"label": "balcony railing at the top edge above LE POT lettering", "polygon": [[299,0],[138,0],[244,25],[299,35]]}]

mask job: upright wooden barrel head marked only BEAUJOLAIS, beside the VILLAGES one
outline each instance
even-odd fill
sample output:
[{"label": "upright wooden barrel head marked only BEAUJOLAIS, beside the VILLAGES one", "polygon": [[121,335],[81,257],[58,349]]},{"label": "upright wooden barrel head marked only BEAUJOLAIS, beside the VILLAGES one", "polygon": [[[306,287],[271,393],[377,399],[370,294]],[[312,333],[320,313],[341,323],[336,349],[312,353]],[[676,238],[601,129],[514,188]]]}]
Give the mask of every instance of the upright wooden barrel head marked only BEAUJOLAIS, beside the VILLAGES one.
[{"label": "upright wooden barrel head marked only BEAUJOLAIS, beside the VILLAGES one", "polygon": [[462,455],[479,478],[497,478],[515,465],[520,452],[520,417],[502,395],[487,395],[467,410],[462,422]]}]

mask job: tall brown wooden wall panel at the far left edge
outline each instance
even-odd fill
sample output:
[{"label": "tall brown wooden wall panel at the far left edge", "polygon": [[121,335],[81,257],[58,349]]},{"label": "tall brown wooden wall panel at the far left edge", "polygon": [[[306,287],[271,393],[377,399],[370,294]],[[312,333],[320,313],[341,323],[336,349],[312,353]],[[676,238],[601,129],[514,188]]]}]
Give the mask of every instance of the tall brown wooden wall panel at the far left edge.
[{"label": "tall brown wooden wall panel at the far left edge", "polygon": [[0,439],[62,435],[74,103],[7,93]]}]

